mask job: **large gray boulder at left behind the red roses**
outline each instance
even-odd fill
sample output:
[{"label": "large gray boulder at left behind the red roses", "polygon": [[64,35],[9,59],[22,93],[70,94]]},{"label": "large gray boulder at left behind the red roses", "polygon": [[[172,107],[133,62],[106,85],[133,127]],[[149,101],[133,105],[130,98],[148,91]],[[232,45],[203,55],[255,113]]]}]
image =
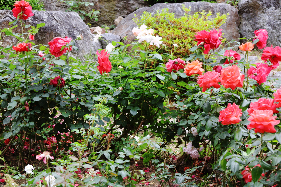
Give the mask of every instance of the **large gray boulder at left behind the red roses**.
[{"label": "large gray boulder at left behind the red roses", "polygon": [[[77,36],[82,35],[82,40],[76,40],[78,51],[72,50],[71,56],[84,60],[84,56],[88,54],[95,54],[97,49],[102,48],[100,42],[93,42],[94,36],[87,26],[79,17],[76,12],[57,12],[57,11],[33,11],[34,15],[27,20],[23,20],[24,24],[35,26],[40,23],[46,25],[39,28],[39,32],[35,34],[33,42],[38,44],[47,45],[54,37],[71,37],[73,40]],[[9,21],[13,21],[15,17],[11,10],[0,10],[0,29],[10,28],[13,25],[8,25]],[[13,29],[14,33],[21,33],[20,22],[18,27]],[[24,29],[26,32],[30,28]],[[27,35],[26,35],[27,36]],[[3,46],[13,45],[17,43],[15,37],[6,36],[1,42]]]}]

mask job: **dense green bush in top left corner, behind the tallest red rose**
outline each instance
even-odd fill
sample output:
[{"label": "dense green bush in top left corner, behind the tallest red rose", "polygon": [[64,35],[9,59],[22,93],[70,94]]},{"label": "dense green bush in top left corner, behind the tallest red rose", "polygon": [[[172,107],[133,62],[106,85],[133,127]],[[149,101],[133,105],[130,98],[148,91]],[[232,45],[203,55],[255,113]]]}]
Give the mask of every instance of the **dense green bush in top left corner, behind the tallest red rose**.
[{"label": "dense green bush in top left corner, behind the tallest red rose", "polygon": [[[32,10],[44,10],[44,4],[40,0],[26,0],[32,6]],[[12,10],[14,0],[0,0],[0,10]]]}]

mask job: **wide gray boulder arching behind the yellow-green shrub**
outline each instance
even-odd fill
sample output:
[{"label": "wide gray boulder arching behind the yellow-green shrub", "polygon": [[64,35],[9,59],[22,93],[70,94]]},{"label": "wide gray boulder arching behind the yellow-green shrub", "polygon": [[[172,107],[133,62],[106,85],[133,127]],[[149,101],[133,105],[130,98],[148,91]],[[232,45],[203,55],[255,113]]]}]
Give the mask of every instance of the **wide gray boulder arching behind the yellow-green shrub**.
[{"label": "wide gray boulder arching behind the yellow-green shrub", "polygon": [[137,27],[136,23],[132,20],[135,18],[134,14],[136,14],[137,18],[140,18],[140,15],[142,15],[144,11],[151,12],[152,15],[154,15],[157,10],[168,8],[169,12],[175,13],[175,17],[180,17],[185,13],[184,10],[182,10],[182,5],[185,5],[185,7],[191,7],[191,11],[189,11],[188,14],[202,12],[202,10],[206,10],[206,12],[208,12],[210,10],[212,12],[212,16],[210,16],[210,18],[216,17],[218,12],[220,12],[220,15],[229,13],[226,23],[220,28],[223,29],[224,38],[227,40],[230,41],[231,39],[239,38],[238,26],[240,24],[240,18],[237,9],[230,4],[208,2],[157,3],[151,7],[143,7],[129,14],[120,21],[118,26],[114,28],[111,33],[119,35],[121,38],[128,36],[127,39],[133,41],[136,37],[134,37],[131,31],[134,27]]}]

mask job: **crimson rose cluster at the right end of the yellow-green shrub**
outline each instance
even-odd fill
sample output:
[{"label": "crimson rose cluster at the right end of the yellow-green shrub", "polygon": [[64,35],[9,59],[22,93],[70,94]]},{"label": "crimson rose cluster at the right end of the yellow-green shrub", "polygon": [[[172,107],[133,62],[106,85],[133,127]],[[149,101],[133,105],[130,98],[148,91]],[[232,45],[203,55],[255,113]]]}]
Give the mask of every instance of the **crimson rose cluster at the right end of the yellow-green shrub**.
[{"label": "crimson rose cluster at the right end of the yellow-green shrub", "polygon": [[210,32],[206,30],[201,30],[200,32],[196,32],[195,41],[197,45],[200,45],[202,42],[204,43],[204,54],[208,54],[211,49],[216,49],[221,44],[221,33],[222,29],[219,30],[211,30]]}]

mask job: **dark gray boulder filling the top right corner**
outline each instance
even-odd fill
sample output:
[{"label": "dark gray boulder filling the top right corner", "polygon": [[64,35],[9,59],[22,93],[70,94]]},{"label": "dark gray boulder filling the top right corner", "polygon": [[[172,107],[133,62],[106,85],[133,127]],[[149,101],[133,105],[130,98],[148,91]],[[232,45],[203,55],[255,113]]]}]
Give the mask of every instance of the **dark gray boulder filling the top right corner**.
[{"label": "dark gray boulder filling the top right corner", "polygon": [[280,0],[242,0],[238,9],[241,37],[252,38],[255,30],[265,28],[268,32],[267,46],[281,46]]}]

